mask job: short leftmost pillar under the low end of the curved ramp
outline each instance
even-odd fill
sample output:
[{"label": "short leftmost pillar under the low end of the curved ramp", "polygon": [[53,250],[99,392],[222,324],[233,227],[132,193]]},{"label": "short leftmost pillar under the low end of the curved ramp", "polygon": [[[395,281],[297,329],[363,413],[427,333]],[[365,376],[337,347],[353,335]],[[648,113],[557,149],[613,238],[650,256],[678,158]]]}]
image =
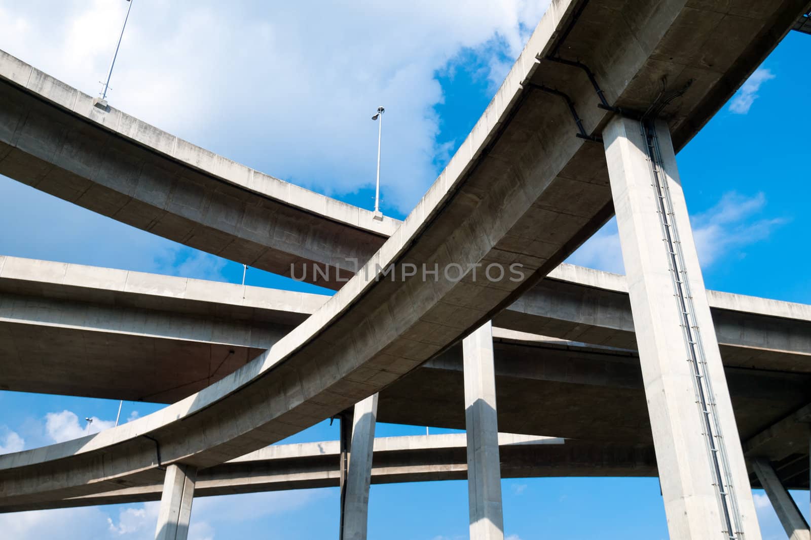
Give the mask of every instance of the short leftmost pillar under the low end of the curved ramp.
[{"label": "short leftmost pillar under the low end of the curved ramp", "polygon": [[186,540],[189,534],[191,501],[195,495],[196,478],[195,467],[186,465],[166,467],[155,540]]}]

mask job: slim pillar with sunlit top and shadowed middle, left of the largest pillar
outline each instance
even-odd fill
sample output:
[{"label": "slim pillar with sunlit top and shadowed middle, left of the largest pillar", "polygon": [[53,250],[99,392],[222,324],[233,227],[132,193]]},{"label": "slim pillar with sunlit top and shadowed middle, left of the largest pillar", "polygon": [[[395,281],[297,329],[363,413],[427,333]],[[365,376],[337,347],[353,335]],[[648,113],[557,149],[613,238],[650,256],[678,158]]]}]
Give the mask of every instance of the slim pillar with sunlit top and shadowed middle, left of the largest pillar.
[{"label": "slim pillar with sunlit top and shadowed middle, left of the largest pillar", "polygon": [[491,322],[462,342],[470,540],[504,540]]}]

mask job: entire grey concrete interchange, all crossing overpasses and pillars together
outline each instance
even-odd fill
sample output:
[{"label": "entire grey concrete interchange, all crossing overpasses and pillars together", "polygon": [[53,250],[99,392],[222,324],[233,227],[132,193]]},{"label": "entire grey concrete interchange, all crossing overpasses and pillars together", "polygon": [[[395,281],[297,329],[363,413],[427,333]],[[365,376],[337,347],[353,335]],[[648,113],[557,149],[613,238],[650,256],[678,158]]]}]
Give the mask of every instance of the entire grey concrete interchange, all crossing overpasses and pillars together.
[{"label": "entire grey concrete interchange, all crossing overpasses and pillars together", "polygon": [[[195,494],[340,485],[341,536],[362,540],[370,483],[467,478],[470,538],[504,540],[502,477],[658,475],[675,540],[760,538],[750,480],[807,538],[786,489],[809,487],[811,306],[705,291],[674,149],[808,9],[549,2],[401,222],[99,108],[0,51],[0,174],[337,289],[0,255],[2,389],[169,404],[0,455],[0,512],[161,499],[156,536],[178,540]],[[654,100],[665,74],[689,91]],[[616,117],[657,104],[666,121]],[[627,281],[559,266],[615,210]],[[494,263],[526,272],[482,276]],[[390,273],[406,266],[422,279]],[[340,442],[276,444],[337,416]],[[467,433],[375,440],[376,419]]]}]

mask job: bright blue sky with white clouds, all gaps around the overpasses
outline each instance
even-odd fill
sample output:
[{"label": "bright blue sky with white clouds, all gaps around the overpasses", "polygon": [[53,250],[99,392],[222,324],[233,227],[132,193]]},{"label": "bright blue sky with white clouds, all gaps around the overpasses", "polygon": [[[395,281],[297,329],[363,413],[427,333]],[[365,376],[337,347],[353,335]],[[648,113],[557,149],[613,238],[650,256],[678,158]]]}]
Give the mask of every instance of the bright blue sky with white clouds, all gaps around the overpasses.
[{"label": "bright blue sky with white clouds, all gaps around the overpasses", "polygon": [[[92,94],[124,9],[126,2],[110,0],[58,6],[0,0],[0,49]],[[367,208],[377,134],[369,116],[384,104],[383,208],[401,218],[483,112],[543,5],[481,2],[456,16],[455,7],[435,2],[320,6],[320,17],[311,15],[314,9],[142,0],[133,8],[109,100],[195,144]],[[787,36],[677,156],[710,288],[811,304],[805,249],[811,150],[802,121],[811,74],[800,67],[809,47],[811,36]],[[232,283],[242,278],[237,263],[2,176],[0,228],[6,231],[0,254]],[[571,261],[621,272],[616,224]],[[247,283],[313,290],[254,269]],[[105,427],[117,408],[107,400],[0,392],[0,451],[79,436],[85,416],[96,418],[93,429]],[[122,418],[156,409],[125,403]],[[423,432],[380,425],[377,435]],[[321,423],[290,442],[335,438],[337,427]],[[655,478],[507,479],[503,493],[511,540],[667,538]],[[807,514],[808,493],[795,495]],[[191,537],[329,538],[337,531],[337,496],[324,489],[199,499]],[[764,538],[785,538],[762,492],[756,504]],[[24,540],[140,540],[151,538],[156,512],[155,504],[27,512],[0,516],[0,527]],[[466,538],[466,483],[374,486],[369,531],[370,538],[393,540]]]}]

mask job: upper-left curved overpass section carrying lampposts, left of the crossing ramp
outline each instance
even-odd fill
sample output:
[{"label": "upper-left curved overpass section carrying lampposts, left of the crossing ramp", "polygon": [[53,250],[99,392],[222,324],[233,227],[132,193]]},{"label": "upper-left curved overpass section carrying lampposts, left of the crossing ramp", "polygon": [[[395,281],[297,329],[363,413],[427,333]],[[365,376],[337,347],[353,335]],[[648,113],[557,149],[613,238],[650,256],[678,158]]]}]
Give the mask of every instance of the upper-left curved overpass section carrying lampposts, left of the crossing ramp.
[{"label": "upper-left curved overpass section carrying lampposts, left of the crossing ramp", "polygon": [[[0,51],[0,174],[276,274],[366,261],[399,223],[237,164]],[[312,281],[312,276],[308,281]],[[340,287],[331,275],[323,283]]]}]

